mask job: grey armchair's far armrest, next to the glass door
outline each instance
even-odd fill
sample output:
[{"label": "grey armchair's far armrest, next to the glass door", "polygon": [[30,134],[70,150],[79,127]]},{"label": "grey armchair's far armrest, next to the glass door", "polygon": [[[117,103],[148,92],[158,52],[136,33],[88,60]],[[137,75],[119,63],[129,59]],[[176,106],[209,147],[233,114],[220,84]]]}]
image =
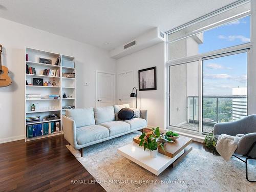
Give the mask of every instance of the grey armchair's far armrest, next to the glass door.
[{"label": "grey armchair's far armrest, next to the glass door", "polygon": [[236,136],[243,134],[241,122],[239,120],[225,123],[216,123],[214,125],[214,135],[227,134]]}]

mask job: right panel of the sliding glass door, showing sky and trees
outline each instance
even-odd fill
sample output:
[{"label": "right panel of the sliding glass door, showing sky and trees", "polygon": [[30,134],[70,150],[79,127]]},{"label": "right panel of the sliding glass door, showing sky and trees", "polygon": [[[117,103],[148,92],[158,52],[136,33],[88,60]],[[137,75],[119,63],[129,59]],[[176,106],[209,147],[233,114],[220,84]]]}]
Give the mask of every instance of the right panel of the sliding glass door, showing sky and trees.
[{"label": "right panel of the sliding glass door, showing sky and trees", "polygon": [[203,58],[203,133],[247,115],[247,51]]}]

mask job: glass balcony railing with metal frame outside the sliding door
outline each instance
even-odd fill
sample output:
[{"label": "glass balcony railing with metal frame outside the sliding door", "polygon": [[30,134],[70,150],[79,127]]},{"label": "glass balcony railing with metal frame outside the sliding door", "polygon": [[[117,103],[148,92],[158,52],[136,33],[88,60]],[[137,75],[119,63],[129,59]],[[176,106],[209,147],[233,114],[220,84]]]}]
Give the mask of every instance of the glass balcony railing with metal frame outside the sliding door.
[{"label": "glass balcony railing with metal frame outside the sliding door", "polygon": [[[198,96],[188,96],[188,122],[198,124]],[[237,120],[247,115],[247,96],[203,96],[203,126]]]}]

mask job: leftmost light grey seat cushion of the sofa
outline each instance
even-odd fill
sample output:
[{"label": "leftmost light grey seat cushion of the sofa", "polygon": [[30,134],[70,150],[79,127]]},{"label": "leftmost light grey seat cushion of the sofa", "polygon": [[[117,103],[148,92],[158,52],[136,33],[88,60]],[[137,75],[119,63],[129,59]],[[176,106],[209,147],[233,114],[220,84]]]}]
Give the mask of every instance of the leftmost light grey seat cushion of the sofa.
[{"label": "leftmost light grey seat cushion of the sofa", "polygon": [[78,145],[90,143],[109,136],[109,130],[100,125],[82,126],[76,129],[76,140]]}]

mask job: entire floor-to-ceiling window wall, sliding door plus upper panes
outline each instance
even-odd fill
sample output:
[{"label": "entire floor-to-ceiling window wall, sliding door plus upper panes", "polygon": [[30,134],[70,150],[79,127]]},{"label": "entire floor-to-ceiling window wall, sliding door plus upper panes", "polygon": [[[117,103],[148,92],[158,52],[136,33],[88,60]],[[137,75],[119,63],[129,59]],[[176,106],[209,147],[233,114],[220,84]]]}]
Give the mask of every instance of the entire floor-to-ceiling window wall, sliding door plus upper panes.
[{"label": "entire floor-to-ceiling window wall, sliding door plus upper panes", "polygon": [[202,134],[247,115],[250,2],[168,34],[168,127]]}]

